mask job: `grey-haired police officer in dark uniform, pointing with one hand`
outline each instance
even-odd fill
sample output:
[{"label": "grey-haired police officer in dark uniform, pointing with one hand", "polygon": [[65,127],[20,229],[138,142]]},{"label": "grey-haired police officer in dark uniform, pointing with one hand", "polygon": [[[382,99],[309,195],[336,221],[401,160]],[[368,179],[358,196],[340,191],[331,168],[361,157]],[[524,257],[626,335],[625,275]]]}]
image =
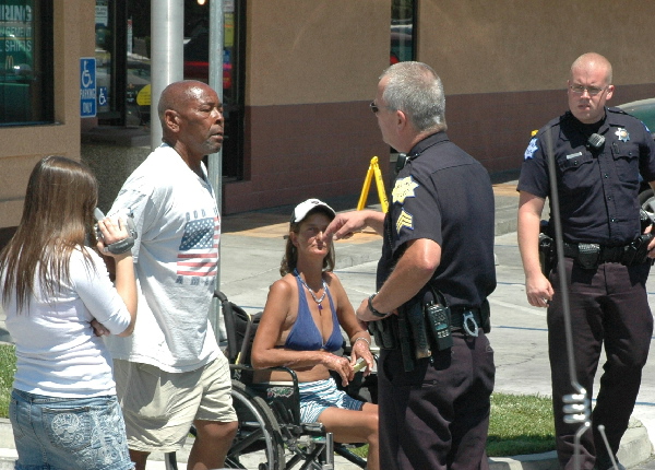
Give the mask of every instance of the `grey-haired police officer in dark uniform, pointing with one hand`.
[{"label": "grey-haired police officer in dark uniform, pointing with one hand", "polygon": [[487,171],[449,141],[444,105],[425,63],[382,74],[371,108],[383,140],[407,154],[390,212],[337,214],[325,233],[342,238],[368,225],[383,235],[378,293],[357,317],[382,349],[380,461],[392,470],[488,468],[493,192]]}]

